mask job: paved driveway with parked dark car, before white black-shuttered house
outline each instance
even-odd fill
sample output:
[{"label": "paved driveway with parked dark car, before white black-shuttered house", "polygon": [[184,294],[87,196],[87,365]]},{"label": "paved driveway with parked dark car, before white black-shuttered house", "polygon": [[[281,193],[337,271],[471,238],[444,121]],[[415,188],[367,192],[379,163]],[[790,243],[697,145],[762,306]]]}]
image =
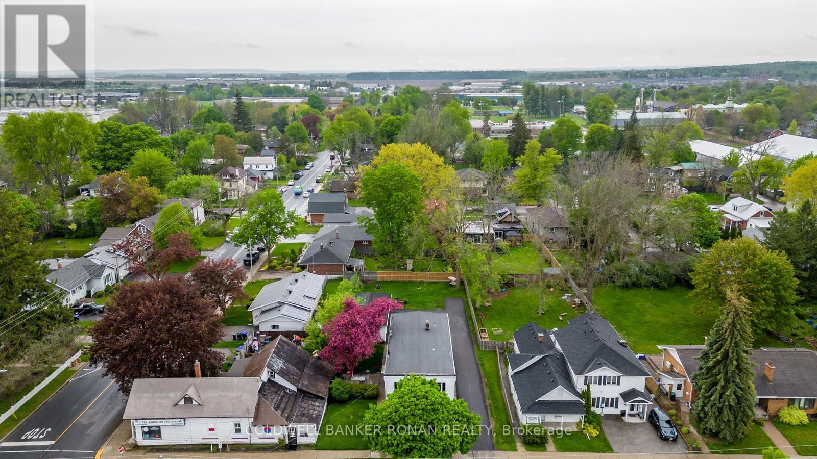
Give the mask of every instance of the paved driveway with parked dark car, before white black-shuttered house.
[{"label": "paved driveway with parked dark car, before white black-shuttered house", "polygon": [[686,452],[684,440],[659,439],[649,422],[624,422],[620,416],[606,415],[602,427],[614,452]]}]

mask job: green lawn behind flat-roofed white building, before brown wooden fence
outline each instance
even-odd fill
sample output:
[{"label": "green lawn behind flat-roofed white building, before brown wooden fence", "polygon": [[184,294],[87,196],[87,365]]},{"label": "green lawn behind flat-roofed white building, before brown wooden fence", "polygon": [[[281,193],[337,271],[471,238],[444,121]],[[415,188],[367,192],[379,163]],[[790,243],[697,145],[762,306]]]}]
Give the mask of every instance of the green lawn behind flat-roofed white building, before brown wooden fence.
[{"label": "green lawn behind flat-roofed white building, before brown wooden fence", "polygon": [[[337,291],[339,280],[330,280],[324,287],[324,295]],[[378,291],[375,287],[381,285]],[[391,293],[392,298],[405,300],[408,310],[437,310],[445,307],[445,298],[465,299],[465,289],[456,289],[444,282],[400,282],[382,281],[378,283],[364,283],[364,292]]]}]

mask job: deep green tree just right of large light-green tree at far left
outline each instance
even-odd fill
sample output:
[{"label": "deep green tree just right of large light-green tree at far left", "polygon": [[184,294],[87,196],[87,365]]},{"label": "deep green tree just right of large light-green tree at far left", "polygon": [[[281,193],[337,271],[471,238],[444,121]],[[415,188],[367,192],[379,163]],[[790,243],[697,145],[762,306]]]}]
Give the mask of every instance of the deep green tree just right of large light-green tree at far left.
[{"label": "deep green tree just right of large light-green tree at far left", "polygon": [[159,136],[153,127],[137,123],[126,126],[113,121],[100,121],[100,141],[90,160],[100,172],[109,174],[121,171],[131,162],[131,157],[143,149],[157,149],[167,158],[173,158],[173,145],[169,138]]}]

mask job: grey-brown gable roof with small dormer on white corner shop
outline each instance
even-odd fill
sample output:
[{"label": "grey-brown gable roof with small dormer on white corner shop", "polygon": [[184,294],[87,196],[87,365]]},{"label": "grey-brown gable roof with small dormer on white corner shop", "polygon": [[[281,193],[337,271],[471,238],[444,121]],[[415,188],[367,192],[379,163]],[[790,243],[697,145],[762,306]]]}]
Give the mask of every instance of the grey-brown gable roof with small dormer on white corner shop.
[{"label": "grey-brown gable roof with small dormer on white corner shop", "polygon": [[[191,386],[200,404],[176,404]],[[252,377],[136,379],[123,419],[251,417],[257,400],[258,379]]]}]

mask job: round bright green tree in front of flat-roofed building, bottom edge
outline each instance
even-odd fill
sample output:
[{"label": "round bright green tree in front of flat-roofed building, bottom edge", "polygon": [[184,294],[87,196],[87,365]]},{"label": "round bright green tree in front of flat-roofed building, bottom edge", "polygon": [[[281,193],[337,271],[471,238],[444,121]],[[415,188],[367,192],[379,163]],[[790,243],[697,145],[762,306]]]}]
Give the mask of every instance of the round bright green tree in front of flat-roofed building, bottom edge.
[{"label": "round bright green tree in front of flat-roofed building, bottom edge", "polygon": [[417,375],[404,377],[383,403],[368,408],[363,424],[369,448],[391,457],[464,455],[481,432],[480,416],[465,400],[449,399],[435,380]]}]

